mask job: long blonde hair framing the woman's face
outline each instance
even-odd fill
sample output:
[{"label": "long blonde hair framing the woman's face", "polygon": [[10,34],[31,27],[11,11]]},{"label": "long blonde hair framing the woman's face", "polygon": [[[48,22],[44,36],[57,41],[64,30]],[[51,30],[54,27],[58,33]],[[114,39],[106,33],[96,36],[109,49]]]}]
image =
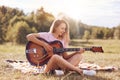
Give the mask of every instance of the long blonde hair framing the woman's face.
[{"label": "long blonde hair framing the woman's face", "polygon": [[67,46],[69,44],[69,41],[70,41],[70,36],[69,36],[69,24],[65,20],[55,20],[52,23],[49,32],[50,33],[54,33],[55,32],[55,28],[57,28],[61,23],[65,23],[66,24],[65,34],[62,36],[62,39],[64,39],[65,45]]}]

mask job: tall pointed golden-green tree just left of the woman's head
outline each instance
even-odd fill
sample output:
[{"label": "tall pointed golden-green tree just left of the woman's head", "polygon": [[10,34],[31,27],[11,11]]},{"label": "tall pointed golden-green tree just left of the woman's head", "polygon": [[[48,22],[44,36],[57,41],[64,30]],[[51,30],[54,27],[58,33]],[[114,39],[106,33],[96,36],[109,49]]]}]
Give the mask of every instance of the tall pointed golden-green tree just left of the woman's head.
[{"label": "tall pointed golden-green tree just left of the woman's head", "polygon": [[49,31],[49,28],[54,20],[54,16],[44,11],[44,8],[41,7],[37,10],[35,14],[35,23],[38,25],[36,26],[36,30],[38,32],[45,32]]}]

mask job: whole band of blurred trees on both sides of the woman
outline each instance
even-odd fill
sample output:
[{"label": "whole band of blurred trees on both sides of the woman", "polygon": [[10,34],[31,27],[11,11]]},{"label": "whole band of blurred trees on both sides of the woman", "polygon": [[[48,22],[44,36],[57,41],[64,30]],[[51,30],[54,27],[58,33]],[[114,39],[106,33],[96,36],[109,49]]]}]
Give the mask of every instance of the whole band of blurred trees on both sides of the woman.
[{"label": "whole band of blurred trees on both sides of the woman", "polygon": [[[59,16],[68,21],[71,39],[82,39],[83,37],[86,39],[120,39],[120,25],[113,28],[92,26],[84,24],[80,20],[76,21],[63,13],[60,13]],[[7,41],[26,43],[25,35],[31,32],[49,31],[54,19],[55,17],[44,11],[43,7],[36,13],[31,12],[25,15],[17,8],[0,6],[0,43]],[[87,38],[88,32],[86,31],[89,32],[90,38]]]}]

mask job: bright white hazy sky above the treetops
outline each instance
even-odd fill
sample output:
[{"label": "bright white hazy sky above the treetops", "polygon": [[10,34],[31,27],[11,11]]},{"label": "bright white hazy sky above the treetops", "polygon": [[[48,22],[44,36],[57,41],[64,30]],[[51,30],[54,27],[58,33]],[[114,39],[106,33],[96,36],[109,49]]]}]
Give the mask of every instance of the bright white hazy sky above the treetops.
[{"label": "bright white hazy sky above the treetops", "polygon": [[120,25],[120,0],[0,0],[2,5],[18,8],[26,14],[44,7],[55,17],[62,12],[88,25]]}]

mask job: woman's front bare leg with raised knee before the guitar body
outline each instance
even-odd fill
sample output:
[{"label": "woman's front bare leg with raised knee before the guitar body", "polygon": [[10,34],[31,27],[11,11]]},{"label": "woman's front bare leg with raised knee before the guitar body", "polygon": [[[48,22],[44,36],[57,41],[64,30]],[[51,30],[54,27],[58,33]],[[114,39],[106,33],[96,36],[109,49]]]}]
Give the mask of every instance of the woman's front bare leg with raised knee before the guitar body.
[{"label": "woman's front bare leg with raised knee before the guitar body", "polygon": [[51,57],[51,59],[49,60],[47,66],[46,66],[45,73],[49,72],[50,70],[55,70],[58,67],[63,70],[69,69],[69,70],[76,71],[79,74],[82,74],[81,69],[79,69],[78,67],[75,67],[74,65],[72,65],[71,63],[69,63],[62,57],[60,57],[59,55],[53,55]]}]

